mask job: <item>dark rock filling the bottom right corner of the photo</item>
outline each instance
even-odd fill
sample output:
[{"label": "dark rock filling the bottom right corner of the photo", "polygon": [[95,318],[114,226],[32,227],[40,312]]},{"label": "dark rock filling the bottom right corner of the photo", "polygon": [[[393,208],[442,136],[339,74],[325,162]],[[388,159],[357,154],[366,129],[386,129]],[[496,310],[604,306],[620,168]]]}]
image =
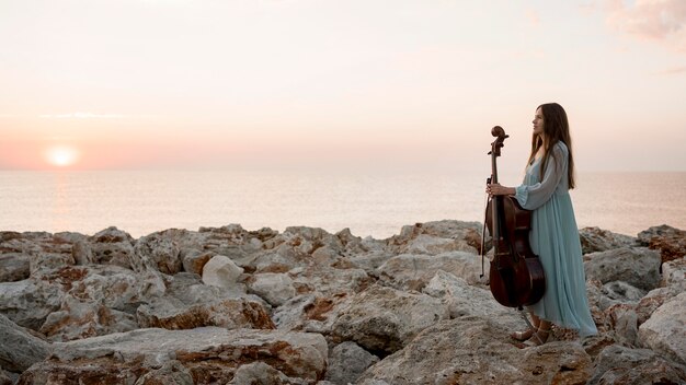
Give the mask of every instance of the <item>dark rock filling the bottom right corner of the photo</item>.
[{"label": "dark rock filling the bottom right corner of the photo", "polygon": [[596,360],[588,385],[684,384],[685,368],[666,361],[647,349],[614,345],[605,348]]}]

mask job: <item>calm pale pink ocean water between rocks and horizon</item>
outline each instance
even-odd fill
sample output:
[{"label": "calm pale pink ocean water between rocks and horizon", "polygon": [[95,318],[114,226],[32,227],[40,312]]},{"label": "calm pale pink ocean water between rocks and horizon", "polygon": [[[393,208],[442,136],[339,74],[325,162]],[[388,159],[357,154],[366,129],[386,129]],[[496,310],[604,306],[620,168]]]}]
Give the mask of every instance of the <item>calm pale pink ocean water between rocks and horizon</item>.
[{"label": "calm pale pink ocean water between rocks and horizon", "polygon": [[[501,173],[502,174],[502,173]],[[306,225],[386,238],[416,222],[483,220],[484,175],[331,175],[267,172],[0,172],[0,230],[134,237],[165,229],[239,223],[247,230]],[[501,175],[505,185],[516,175]],[[636,235],[686,229],[686,173],[579,175],[580,228]]]}]

